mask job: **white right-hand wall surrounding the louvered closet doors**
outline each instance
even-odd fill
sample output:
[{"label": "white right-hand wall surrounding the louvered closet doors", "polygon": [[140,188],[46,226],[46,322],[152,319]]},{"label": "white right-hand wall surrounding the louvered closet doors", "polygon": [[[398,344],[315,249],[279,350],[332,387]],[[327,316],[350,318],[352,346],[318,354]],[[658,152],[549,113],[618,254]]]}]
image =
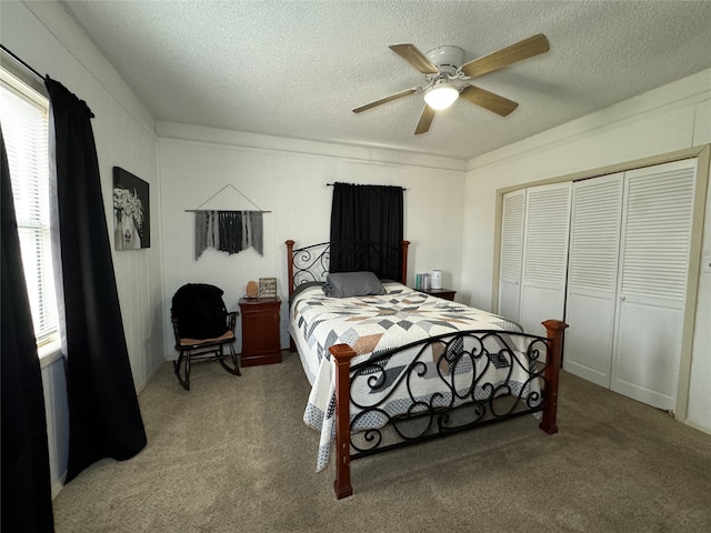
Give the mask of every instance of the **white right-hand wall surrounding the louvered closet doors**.
[{"label": "white right-hand wall surrounding the louvered closet doors", "polygon": [[[491,309],[497,190],[711,143],[711,70],[469,161],[462,291]],[[709,192],[711,199],[711,192]],[[707,199],[707,205],[711,205]],[[701,254],[711,255],[707,209]],[[687,423],[711,432],[711,274],[699,275]],[[679,413],[683,419],[684,413]]]}]

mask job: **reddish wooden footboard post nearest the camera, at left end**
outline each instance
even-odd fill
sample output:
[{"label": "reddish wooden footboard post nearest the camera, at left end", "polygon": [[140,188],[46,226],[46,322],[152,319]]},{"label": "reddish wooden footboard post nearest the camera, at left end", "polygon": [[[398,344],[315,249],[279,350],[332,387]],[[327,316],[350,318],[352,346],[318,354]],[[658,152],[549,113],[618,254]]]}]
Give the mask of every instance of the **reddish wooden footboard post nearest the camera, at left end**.
[{"label": "reddish wooden footboard post nearest the camera, at left end", "polygon": [[348,344],[329,348],[336,362],[336,497],[353,494],[351,486],[350,363],[356,352]]}]

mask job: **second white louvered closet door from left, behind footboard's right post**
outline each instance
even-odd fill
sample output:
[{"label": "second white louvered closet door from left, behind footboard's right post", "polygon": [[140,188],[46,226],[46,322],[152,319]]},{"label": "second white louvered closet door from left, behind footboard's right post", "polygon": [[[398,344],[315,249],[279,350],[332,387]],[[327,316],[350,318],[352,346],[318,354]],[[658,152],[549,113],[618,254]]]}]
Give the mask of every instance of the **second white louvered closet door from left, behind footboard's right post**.
[{"label": "second white louvered closet door from left, behind footboard's right post", "polygon": [[527,190],[520,322],[541,333],[541,322],[563,319],[572,183]]}]

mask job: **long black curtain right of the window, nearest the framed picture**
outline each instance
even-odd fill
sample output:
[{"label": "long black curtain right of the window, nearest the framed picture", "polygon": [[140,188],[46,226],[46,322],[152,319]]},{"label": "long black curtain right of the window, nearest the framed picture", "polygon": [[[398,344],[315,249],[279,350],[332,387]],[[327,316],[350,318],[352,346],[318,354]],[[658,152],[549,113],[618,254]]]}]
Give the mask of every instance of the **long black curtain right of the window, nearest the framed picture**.
[{"label": "long black curtain right of the window, nearest the framed picture", "polygon": [[61,247],[58,300],[63,302],[70,481],[100,459],[132,457],[146,446],[146,431],[116,288],[93,114],[61,83],[48,78],[46,86],[56,163],[53,221]]}]

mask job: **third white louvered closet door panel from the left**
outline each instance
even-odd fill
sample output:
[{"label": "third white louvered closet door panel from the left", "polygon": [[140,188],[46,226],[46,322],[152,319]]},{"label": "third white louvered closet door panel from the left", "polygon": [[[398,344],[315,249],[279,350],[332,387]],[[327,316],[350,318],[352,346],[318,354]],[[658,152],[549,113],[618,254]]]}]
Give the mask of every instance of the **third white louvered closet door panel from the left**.
[{"label": "third white louvered closet door panel from the left", "polygon": [[623,174],[573,183],[564,369],[610,388]]}]

